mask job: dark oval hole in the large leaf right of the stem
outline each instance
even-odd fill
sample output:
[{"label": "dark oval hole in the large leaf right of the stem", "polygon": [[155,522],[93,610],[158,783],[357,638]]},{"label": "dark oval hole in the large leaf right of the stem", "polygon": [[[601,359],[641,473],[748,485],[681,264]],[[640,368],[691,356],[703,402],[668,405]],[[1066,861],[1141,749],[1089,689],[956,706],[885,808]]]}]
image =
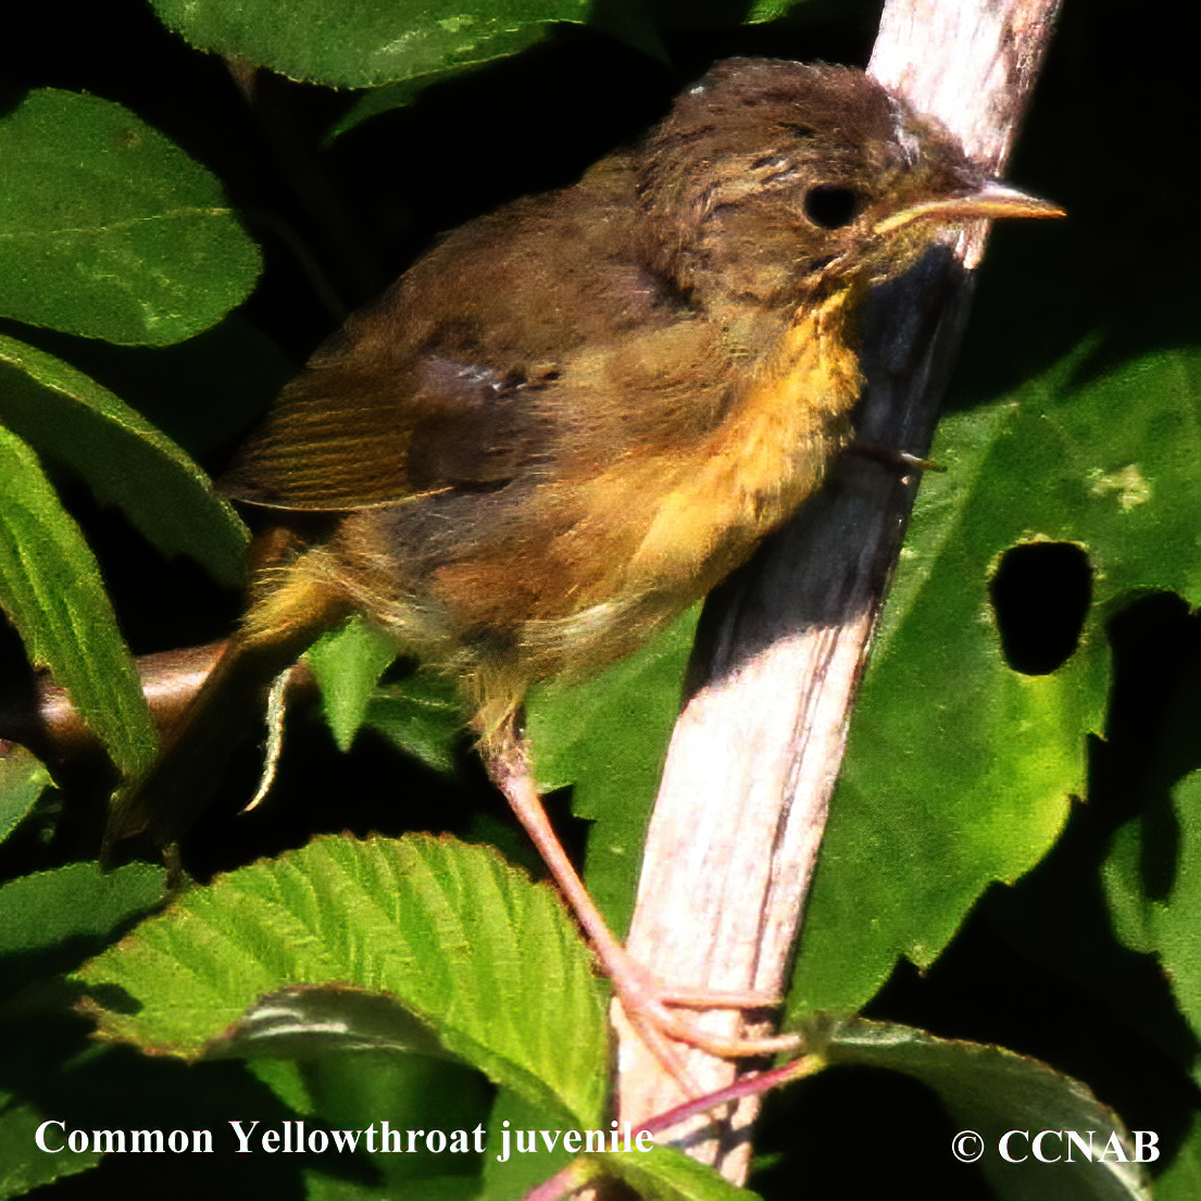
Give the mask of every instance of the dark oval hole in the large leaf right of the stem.
[{"label": "dark oval hole in the large leaf right of the stem", "polygon": [[1005,662],[1023,675],[1050,675],[1080,643],[1093,569],[1071,543],[1027,543],[1005,551],[990,591]]}]

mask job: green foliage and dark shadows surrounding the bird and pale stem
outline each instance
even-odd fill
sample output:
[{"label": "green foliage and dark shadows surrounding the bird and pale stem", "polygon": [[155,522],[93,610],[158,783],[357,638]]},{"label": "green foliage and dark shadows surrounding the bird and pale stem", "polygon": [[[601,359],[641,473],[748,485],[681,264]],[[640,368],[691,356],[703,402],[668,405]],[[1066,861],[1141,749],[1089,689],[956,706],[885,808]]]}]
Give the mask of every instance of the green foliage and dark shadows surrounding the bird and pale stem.
[{"label": "green foliage and dark shadows surrounding the bird and pale stem", "polygon": [[[154,753],[130,647],[226,631],[246,530],[210,474],[287,360],[440,229],[568,183],[711,59],[853,60],[876,12],[103,7],[2,76],[0,604],[10,658],[48,669],[110,763],[94,783],[0,745],[0,1196],[520,1196],[570,1161],[556,1133],[608,1129],[604,993],[546,885],[476,844],[530,862],[443,681],[362,626],[323,639],[331,736],[293,718],[279,795],[244,819],[256,764],[235,763],[169,895],[157,866],[102,873],[76,814]],[[1105,5],[1069,13],[1024,135],[1015,178],[1071,216],[994,235],[789,998],[827,1069],[769,1104],[766,1197],[802,1176],[883,1193],[900,1171],[957,1197],[1175,1201],[1201,1181],[1196,249],[1160,220],[1148,252],[1181,203],[1170,172],[1118,197],[1097,169],[1116,144],[1179,153],[1164,114],[1190,76],[1166,41]],[[540,781],[570,788],[619,927],[694,621],[531,705]],[[384,1118],[464,1147],[390,1153]],[[47,1153],[47,1121],[223,1146],[184,1171]],[[233,1121],[263,1147],[297,1123],[364,1134],[231,1160]],[[1112,1130],[1128,1151],[1149,1130],[1161,1157],[1153,1184],[1116,1154],[969,1167],[948,1151],[964,1128]],[[555,1151],[501,1163],[502,1129]],[[647,1197],[748,1195],[665,1148],[593,1169]]]}]

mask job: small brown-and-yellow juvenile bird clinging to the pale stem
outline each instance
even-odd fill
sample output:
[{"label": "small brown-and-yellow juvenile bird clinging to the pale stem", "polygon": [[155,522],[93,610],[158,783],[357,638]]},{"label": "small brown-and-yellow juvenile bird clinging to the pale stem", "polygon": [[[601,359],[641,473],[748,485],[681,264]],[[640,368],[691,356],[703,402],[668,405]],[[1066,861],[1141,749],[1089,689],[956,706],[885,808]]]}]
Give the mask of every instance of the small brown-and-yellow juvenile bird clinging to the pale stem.
[{"label": "small brown-and-yellow juvenile bird clinging to the pale stem", "polygon": [[222,482],[279,525],[110,841],[175,837],[261,687],[360,613],[460,681],[620,976],[519,779],[527,689],[633,651],[819,486],[852,438],[873,285],[948,222],[1056,215],[861,71],[733,59],[574,186],[450,233],[318,349]]}]

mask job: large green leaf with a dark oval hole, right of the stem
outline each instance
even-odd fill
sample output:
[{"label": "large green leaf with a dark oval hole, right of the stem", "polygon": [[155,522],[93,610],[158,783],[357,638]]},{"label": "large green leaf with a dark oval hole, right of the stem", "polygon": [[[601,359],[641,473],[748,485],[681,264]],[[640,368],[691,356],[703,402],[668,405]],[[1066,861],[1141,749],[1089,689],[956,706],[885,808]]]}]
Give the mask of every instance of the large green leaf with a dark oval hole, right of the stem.
[{"label": "large green leaf with a dark oval hole, right of the stem", "polygon": [[[991,882],[1038,862],[1101,729],[1105,621],[1137,590],[1201,599],[1201,354],[1092,353],[939,428],[949,470],[919,494],[853,721],[794,1014],[858,1010],[898,956],[931,963]],[[1086,548],[1094,588],[1076,653],[1032,676],[1005,663],[988,584],[1040,540]]]}]

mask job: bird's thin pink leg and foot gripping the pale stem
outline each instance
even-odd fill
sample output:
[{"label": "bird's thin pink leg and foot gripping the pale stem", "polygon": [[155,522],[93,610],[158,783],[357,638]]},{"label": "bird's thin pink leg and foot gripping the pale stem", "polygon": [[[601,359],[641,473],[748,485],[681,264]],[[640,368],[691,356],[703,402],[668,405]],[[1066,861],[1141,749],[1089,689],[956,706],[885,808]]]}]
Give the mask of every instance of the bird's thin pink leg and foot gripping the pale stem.
[{"label": "bird's thin pink leg and foot gripping the pale stem", "polygon": [[689,1009],[764,1009],[778,1004],[778,998],[755,993],[673,992],[659,987],[651,974],[617,942],[590,896],[579,873],[563,850],[546,817],[542,797],[530,770],[524,737],[512,717],[485,739],[484,760],[489,775],[504,794],[518,820],[525,826],[555,883],[592,944],[617,999],[639,1036],[663,1066],[691,1094],[697,1089],[687,1078],[673,1041],[694,1046],[723,1059],[745,1059],[795,1050],[796,1035],[766,1039],[727,1039],[697,1029],[677,1017],[668,1006]]}]

